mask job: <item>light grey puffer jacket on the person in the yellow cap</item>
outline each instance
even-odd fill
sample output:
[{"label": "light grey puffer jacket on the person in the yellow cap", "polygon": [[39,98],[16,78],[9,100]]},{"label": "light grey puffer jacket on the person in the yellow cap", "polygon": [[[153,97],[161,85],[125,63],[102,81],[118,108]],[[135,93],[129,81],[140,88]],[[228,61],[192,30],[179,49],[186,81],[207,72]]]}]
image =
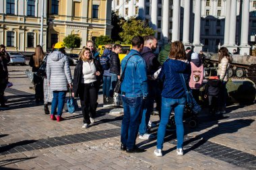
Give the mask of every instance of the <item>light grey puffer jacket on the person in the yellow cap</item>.
[{"label": "light grey puffer jacket on the person in the yellow cap", "polygon": [[67,83],[72,83],[69,59],[60,51],[54,51],[47,57],[47,82],[52,91],[67,91]]}]

